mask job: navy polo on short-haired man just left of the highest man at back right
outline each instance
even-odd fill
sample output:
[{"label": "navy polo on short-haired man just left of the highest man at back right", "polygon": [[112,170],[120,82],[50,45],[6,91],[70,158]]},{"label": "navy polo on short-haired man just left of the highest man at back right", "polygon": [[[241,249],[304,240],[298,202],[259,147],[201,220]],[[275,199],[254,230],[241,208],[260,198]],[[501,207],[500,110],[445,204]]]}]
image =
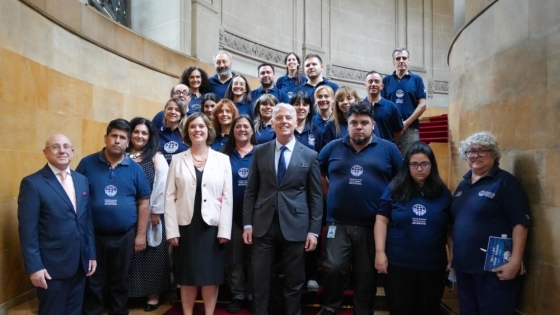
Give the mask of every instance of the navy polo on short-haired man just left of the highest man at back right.
[{"label": "navy polo on short-haired man just left of the highest man at back right", "polygon": [[[369,103],[367,97],[364,98],[364,102]],[[375,130],[377,130],[376,135],[385,140],[395,142],[395,133],[403,128],[397,104],[382,97],[379,102],[373,104],[373,118]]]}]

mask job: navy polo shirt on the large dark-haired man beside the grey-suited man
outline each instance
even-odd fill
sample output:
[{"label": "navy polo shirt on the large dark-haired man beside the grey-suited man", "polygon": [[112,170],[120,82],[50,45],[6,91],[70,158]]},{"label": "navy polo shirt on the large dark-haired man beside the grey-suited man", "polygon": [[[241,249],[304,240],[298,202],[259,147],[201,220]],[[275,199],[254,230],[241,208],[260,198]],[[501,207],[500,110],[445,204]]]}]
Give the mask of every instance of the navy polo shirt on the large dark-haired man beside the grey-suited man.
[{"label": "navy polo shirt on the large dark-haired man beside the grey-suited man", "polygon": [[377,136],[360,152],[349,141],[333,140],[319,153],[321,174],[329,179],[327,221],[373,228],[377,202],[401,168],[402,155]]}]

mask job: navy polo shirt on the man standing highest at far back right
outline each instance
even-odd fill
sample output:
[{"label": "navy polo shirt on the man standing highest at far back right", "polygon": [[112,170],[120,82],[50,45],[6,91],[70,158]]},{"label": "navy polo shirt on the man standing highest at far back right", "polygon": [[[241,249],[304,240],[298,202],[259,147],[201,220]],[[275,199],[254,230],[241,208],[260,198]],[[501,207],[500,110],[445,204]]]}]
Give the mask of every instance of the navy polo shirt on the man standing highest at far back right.
[{"label": "navy polo shirt on the man standing highest at far back right", "polygon": [[[397,105],[404,120],[414,113],[420,99],[426,99],[424,81],[411,71],[408,71],[402,79],[399,79],[397,73],[393,71],[392,75],[383,78],[383,84],[385,87],[381,90],[381,96]],[[419,129],[420,123],[416,120],[411,126]]]}]

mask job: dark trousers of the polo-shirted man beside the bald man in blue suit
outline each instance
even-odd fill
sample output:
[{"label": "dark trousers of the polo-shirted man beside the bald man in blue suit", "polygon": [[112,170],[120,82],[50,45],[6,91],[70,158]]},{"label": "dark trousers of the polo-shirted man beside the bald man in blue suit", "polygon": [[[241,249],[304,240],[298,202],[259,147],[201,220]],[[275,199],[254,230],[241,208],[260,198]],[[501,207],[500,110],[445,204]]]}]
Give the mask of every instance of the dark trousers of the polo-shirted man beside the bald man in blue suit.
[{"label": "dark trousers of the polo-shirted man beside the bald man in blue suit", "polygon": [[97,270],[86,281],[84,315],[101,315],[104,306],[109,315],[128,314],[126,303],[135,238],[134,229],[120,235],[95,236]]}]

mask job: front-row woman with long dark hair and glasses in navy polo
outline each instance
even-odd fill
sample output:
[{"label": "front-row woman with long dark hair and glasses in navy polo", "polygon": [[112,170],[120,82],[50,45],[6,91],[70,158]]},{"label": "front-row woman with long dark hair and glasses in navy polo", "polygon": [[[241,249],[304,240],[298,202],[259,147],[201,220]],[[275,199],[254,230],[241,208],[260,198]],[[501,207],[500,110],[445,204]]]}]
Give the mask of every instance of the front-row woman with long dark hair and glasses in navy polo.
[{"label": "front-row woman with long dark hair and glasses in navy polo", "polygon": [[434,152],[415,142],[379,200],[374,226],[375,268],[387,274],[391,315],[438,314],[448,269],[451,192]]}]

